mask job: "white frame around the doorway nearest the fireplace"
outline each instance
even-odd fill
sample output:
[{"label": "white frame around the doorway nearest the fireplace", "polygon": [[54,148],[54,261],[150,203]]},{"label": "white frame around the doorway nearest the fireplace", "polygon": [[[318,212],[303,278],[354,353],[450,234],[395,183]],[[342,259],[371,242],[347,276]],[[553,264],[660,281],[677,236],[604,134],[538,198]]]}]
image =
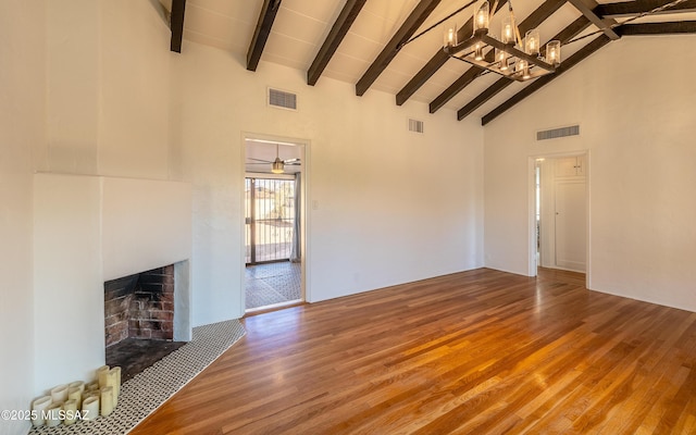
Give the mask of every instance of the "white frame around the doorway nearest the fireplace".
[{"label": "white frame around the doorway nearest the fireplace", "polygon": [[300,159],[302,161],[302,164],[300,165],[300,174],[301,174],[301,181],[300,181],[300,252],[301,252],[301,257],[300,257],[300,275],[301,275],[301,282],[300,282],[300,288],[301,288],[301,295],[302,295],[302,300],[304,300],[306,302],[311,302],[312,301],[312,297],[311,297],[311,279],[310,279],[310,274],[311,274],[311,270],[309,268],[310,263],[310,257],[311,257],[311,249],[309,246],[309,240],[310,240],[310,231],[311,231],[311,225],[310,225],[310,221],[311,221],[311,216],[309,214],[309,207],[308,204],[310,203],[310,195],[309,192],[311,191],[309,186],[310,186],[310,171],[309,171],[309,165],[310,165],[310,140],[309,139],[301,139],[301,138],[296,138],[296,137],[287,137],[287,136],[276,136],[276,135],[270,135],[270,134],[262,134],[262,133],[251,133],[251,132],[243,132],[241,133],[241,161],[240,161],[240,165],[241,165],[241,176],[239,179],[240,183],[240,194],[239,194],[239,210],[240,210],[240,214],[241,214],[241,219],[240,221],[240,227],[239,227],[239,236],[240,236],[240,240],[241,243],[239,244],[239,252],[240,252],[240,261],[239,261],[239,288],[241,289],[239,291],[239,298],[240,298],[240,304],[239,304],[239,309],[240,309],[240,313],[239,313],[239,318],[243,318],[246,314],[246,279],[245,279],[245,270],[246,270],[246,247],[245,247],[245,238],[246,238],[246,223],[245,223],[245,178],[247,177],[247,171],[246,171],[246,161],[247,161],[247,140],[251,139],[251,140],[264,140],[264,141],[271,141],[271,142],[285,142],[285,144],[290,144],[293,146],[298,146],[300,147]]}]

